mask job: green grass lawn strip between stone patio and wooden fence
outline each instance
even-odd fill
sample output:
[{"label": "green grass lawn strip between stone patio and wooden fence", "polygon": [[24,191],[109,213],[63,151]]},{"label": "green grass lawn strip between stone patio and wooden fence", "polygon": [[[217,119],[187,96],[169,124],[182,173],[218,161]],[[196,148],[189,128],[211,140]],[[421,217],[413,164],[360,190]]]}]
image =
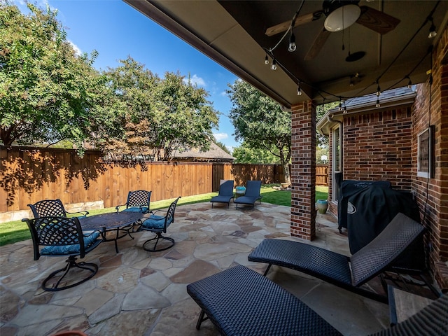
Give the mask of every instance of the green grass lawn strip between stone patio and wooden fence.
[{"label": "green grass lawn strip between stone patio and wooden fence", "polygon": [[[266,184],[261,187],[262,202],[284,205],[290,207],[291,193],[288,191],[275,190],[272,187],[279,186],[278,184]],[[186,196],[179,200],[179,205],[209,202],[211,197],[218,195],[218,193],[208,193],[202,195]],[[328,187],[316,187],[316,200],[326,200],[328,198]],[[151,202],[151,210],[164,209],[169,207],[172,200],[162,200]],[[90,215],[106,214],[108,212],[116,211],[115,207],[98,210],[89,210]],[[0,246],[6,244],[13,244],[16,241],[31,239],[27,223],[22,221],[13,221],[8,223],[0,223]]]}]

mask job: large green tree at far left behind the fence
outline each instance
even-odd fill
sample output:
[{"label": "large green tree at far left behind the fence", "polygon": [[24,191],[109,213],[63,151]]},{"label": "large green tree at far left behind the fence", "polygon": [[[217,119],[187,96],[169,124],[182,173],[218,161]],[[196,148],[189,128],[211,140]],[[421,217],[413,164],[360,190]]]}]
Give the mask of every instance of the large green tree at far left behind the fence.
[{"label": "large green tree at far left behind the fence", "polygon": [[0,139],[5,146],[55,143],[81,148],[107,122],[98,102],[104,79],[92,67],[97,52],[76,55],[57,11],[0,2]]}]

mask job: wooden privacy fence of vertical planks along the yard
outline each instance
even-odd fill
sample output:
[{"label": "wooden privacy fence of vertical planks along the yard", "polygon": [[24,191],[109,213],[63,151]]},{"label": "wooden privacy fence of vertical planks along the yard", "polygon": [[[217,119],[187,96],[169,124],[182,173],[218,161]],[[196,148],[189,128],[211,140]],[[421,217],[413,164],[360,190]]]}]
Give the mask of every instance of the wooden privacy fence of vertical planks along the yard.
[{"label": "wooden privacy fence of vertical planks along the yard", "polygon": [[[326,167],[326,166],[325,166]],[[328,180],[318,167],[316,181]],[[324,176],[324,174],[326,174]],[[0,147],[0,212],[29,209],[27,204],[59,198],[64,204],[124,204],[130,190],[152,190],[151,201],[211,193],[221,179],[263,184],[283,181],[280,165],[203,162],[104,162],[98,151]],[[324,184],[324,183],[322,183]]]}]

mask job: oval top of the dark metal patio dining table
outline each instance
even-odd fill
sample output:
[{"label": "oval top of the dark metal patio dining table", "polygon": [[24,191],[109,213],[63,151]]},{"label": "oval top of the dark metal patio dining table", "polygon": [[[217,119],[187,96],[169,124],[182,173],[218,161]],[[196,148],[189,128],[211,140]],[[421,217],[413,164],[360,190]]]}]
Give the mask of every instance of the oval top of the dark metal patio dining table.
[{"label": "oval top of the dark metal patio dining table", "polygon": [[81,217],[79,222],[83,230],[101,230],[102,228],[109,230],[131,225],[143,217],[144,214],[139,212],[121,211]]}]

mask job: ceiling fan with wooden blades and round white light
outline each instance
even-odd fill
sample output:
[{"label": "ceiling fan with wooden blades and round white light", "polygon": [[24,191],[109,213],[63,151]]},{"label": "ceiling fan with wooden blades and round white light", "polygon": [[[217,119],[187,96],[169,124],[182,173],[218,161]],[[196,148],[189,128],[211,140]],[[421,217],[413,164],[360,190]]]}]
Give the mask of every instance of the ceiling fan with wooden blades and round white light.
[{"label": "ceiling fan with wooden blades and round white light", "polygon": [[[321,51],[330,33],[341,31],[353,25],[355,22],[383,35],[395,29],[400,20],[391,15],[380,12],[372,7],[358,6],[359,0],[324,0],[322,9],[313,13],[300,15],[293,20],[293,28],[299,25],[319,20],[325,16],[324,25],[316,36],[314,43],[309,48],[304,59],[313,59]],[[279,34],[289,29],[291,21],[266,29],[267,36]]]}]

